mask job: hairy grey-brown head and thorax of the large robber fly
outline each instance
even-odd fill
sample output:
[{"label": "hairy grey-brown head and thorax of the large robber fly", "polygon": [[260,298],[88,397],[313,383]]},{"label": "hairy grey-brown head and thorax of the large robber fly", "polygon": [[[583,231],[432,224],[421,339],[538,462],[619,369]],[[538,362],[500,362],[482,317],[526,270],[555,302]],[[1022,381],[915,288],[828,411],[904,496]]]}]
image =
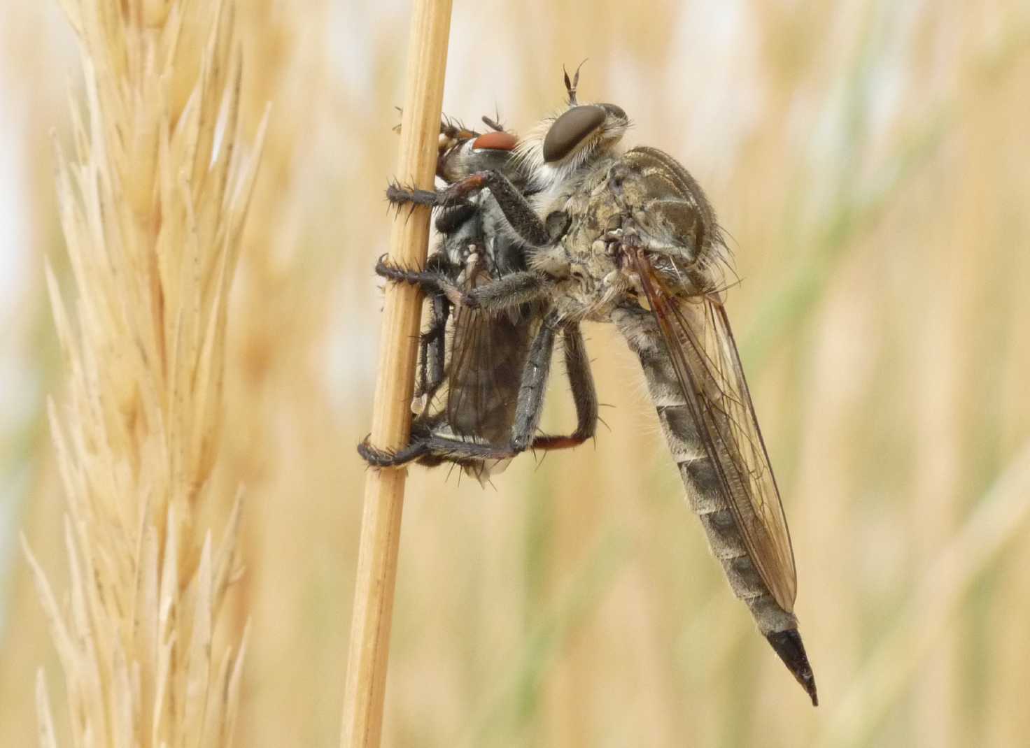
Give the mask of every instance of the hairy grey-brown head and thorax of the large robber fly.
[{"label": "hairy grey-brown head and thorax of the large robber fly", "polygon": [[[533,268],[573,281],[555,286],[557,304],[570,317],[612,321],[627,294],[644,298],[624,237],[636,237],[634,244],[648,248],[654,270],[668,277],[676,295],[719,295],[726,253],[700,187],[656,149],[626,152],[622,137],[629,119],[622,107],[579,104],[576,83],[568,76],[566,87],[568,108],[542,120],[516,147],[535,190],[529,203],[552,225],[565,221],[558,241],[529,255]],[[665,162],[689,180],[686,201],[671,204],[665,199],[666,175],[648,169],[647,162],[654,161]],[[694,235],[693,246],[677,241],[685,227]]]}]

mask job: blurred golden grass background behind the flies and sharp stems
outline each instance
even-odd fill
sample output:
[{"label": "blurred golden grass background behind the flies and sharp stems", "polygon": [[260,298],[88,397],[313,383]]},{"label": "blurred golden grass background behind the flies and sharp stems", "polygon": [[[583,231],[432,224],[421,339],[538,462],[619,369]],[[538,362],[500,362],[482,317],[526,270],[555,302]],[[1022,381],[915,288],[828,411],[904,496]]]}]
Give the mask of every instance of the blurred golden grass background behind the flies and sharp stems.
[{"label": "blurred golden grass background behind the flies and sharp stems", "polygon": [[[407,3],[240,4],[272,115],[230,312],[222,494],[245,488],[238,744],[339,738]],[[56,2],[0,30],[0,745],[61,674],[18,543],[66,589],[45,425],[67,272]],[[633,358],[587,326],[594,446],[481,490],[408,483],[384,745],[1025,745],[1030,735],[1030,7],[456,3],[444,109],[515,132],[616,102],[733,240],[729,312],[790,521],[813,709],[683,501]],[[74,94],[77,96],[77,94]],[[559,385],[560,377],[554,378]],[[545,428],[573,422],[556,385]],[[1021,542],[1022,541],[1022,542]],[[62,704],[60,698],[55,703]],[[60,713],[59,713],[60,716]],[[59,738],[69,745],[59,719]]]}]

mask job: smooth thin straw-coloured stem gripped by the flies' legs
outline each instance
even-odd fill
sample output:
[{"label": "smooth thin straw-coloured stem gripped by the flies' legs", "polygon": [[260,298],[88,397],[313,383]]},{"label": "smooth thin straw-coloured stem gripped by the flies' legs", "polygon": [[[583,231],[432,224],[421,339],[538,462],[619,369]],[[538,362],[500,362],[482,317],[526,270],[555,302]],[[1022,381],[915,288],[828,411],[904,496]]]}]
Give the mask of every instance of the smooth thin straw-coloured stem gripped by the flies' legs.
[{"label": "smooth thin straw-coloured stem gripped by the flies' legs", "polygon": [[[450,0],[417,0],[412,8],[397,176],[420,188],[432,188],[436,173],[450,13]],[[424,265],[428,237],[428,208],[401,211],[390,231],[391,260]],[[416,288],[387,287],[371,434],[386,449],[408,439],[420,315]],[[380,741],[404,482],[403,469],[370,470],[366,478],[341,739],[351,748]]]}]

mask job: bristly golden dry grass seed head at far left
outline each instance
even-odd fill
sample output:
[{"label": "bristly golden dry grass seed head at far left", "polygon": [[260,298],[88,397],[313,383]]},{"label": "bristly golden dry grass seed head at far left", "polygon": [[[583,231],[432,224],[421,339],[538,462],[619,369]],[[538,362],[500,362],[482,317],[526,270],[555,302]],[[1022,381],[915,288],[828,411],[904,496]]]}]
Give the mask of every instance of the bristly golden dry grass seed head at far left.
[{"label": "bristly golden dry grass seed head at far left", "polygon": [[[50,428],[70,599],[26,545],[76,746],[232,743],[242,640],[215,638],[240,573],[240,496],[211,495],[227,297],[259,163],[234,4],[66,0],[84,72],[58,152],[76,294],[47,272],[67,404]],[[227,517],[228,515],[228,517]],[[225,522],[220,540],[210,526]],[[40,744],[55,745],[45,681]]]}]

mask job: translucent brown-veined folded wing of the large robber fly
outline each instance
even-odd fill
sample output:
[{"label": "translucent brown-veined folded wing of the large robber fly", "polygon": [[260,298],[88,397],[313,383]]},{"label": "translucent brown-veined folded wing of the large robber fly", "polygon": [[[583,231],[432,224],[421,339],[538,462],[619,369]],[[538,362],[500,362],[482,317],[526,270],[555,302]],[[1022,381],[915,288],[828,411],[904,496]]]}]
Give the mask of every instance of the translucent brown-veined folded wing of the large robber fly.
[{"label": "translucent brown-veined folded wing of the large robber fly", "polygon": [[794,607],[797,575],[790,531],[748,383],[721,300],[671,294],[643,251],[630,255],[676,376],[744,537],[751,562],[777,603]]}]

